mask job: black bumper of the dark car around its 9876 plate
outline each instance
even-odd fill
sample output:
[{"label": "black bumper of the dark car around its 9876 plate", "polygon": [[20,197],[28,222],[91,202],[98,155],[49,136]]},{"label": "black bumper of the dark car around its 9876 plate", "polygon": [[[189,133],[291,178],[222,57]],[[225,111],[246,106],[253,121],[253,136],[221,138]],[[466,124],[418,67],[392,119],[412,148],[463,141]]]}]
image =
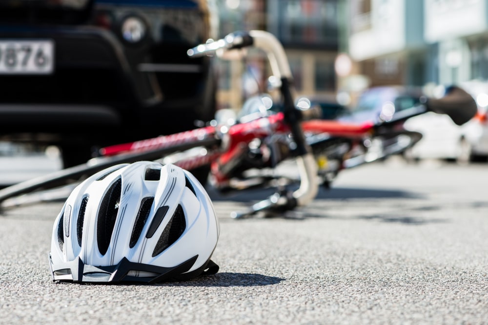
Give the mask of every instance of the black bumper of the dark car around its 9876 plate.
[{"label": "black bumper of the dark car around its 9876 plate", "polygon": [[[168,57],[161,58],[166,64],[142,64],[144,60],[128,55],[113,34],[93,26],[15,29],[0,24],[0,40],[14,39],[52,40],[54,71],[0,74],[0,134],[69,131],[85,122],[125,125],[127,134],[164,124],[174,127],[168,132],[182,131],[192,128],[193,120],[182,126],[178,119],[169,122],[168,115],[181,112],[182,119],[195,118],[192,111],[204,110],[203,100],[209,95],[208,58],[189,64],[180,58],[186,59],[186,55],[178,54],[179,64],[174,64],[166,50],[163,53]],[[162,46],[155,48],[159,51]],[[179,51],[184,49],[184,45],[178,46]],[[161,130],[155,129],[141,136],[159,134]]]}]

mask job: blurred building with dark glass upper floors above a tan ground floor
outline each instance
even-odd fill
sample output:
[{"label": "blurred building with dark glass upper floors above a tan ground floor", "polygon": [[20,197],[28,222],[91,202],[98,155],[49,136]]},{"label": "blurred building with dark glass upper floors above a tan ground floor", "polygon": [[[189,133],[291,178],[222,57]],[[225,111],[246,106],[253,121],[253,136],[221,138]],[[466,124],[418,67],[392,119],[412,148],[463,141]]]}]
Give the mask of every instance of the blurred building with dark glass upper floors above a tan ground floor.
[{"label": "blurred building with dark glass upper floors above a tan ground floor", "polygon": [[305,94],[335,92],[338,1],[267,2],[268,31],[286,48],[297,90]]}]

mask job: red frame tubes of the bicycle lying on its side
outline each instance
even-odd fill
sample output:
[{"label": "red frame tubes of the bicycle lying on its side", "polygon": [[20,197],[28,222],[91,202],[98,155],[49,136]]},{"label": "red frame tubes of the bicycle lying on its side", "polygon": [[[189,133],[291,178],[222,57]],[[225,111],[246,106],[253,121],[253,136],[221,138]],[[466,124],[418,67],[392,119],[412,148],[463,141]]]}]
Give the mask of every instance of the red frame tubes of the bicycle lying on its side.
[{"label": "red frame tubes of the bicycle lying on its side", "polygon": [[[373,128],[373,123],[352,124],[339,121],[309,120],[302,122],[305,132],[327,133],[333,136],[360,138],[367,136]],[[226,168],[239,160],[247,150],[253,139],[264,139],[272,134],[289,134],[290,129],[285,123],[285,115],[278,113],[252,120],[247,123],[232,126],[207,126],[178,134],[163,135],[130,143],[118,144],[102,148],[103,156],[112,156],[122,153],[138,153],[177,146],[202,144],[209,140],[220,139],[222,144],[214,150],[203,155],[194,155],[187,159],[175,162],[180,167],[192,170],[203,165],[211,164],[212,176],[216,182],[222,183],[227,178]]]}]

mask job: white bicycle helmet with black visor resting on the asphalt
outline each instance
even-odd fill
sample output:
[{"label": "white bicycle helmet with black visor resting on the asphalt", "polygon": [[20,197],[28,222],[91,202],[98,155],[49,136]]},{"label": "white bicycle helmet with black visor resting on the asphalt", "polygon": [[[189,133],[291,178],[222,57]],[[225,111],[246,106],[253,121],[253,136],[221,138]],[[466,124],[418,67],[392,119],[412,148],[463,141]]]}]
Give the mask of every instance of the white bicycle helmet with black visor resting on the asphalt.
[{"label": "white bicycle helmet with black visor resting on the asphalt", "polygon": [[190,173],[142,161],[94,174],[69,195],[53,228],[53,281],[187,280],[215,274],[219,223]]}]

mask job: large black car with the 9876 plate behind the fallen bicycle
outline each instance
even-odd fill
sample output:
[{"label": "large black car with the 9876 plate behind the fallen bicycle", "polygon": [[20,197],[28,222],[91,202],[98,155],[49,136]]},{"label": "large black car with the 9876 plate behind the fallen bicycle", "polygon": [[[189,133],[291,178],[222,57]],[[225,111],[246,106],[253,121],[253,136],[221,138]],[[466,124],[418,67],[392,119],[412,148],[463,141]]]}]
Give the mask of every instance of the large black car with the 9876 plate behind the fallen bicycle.
[{"label": "large black car with the 9876 plate behind the fallen bicycle", "polygon": [[215,114],[212,0],[0,0],[0,140],[93,147],[170,134]]}]

